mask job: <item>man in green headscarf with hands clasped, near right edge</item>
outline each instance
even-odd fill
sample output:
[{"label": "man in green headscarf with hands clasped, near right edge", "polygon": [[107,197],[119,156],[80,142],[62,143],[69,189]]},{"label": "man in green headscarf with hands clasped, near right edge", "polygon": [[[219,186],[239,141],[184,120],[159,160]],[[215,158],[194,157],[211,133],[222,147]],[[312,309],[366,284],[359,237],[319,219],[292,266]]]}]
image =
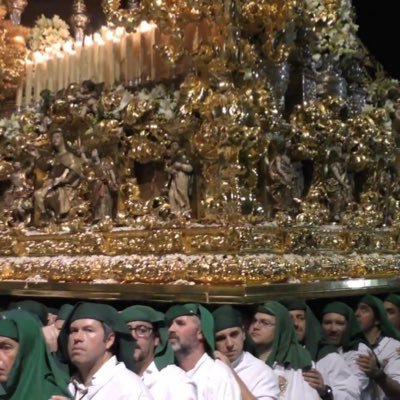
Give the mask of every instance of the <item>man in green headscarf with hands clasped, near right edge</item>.
[{"label": "man in green headscarf with hands clasped, near right edge", "polygon": [[370,378],[362,400],[400,398],[400,333],[387,319],[383,302],[366,295],[358,303],[356,318],[371,351],[358,358],[359,367]]}]

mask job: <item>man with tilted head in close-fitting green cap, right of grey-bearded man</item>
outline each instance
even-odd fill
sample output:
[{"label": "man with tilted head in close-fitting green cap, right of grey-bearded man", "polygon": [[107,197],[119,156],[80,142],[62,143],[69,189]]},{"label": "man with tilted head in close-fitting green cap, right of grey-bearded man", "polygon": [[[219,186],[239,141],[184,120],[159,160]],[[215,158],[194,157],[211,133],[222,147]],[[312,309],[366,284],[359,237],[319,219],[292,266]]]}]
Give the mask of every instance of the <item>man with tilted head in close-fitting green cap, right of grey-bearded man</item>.
[{"label": "man with tilted head in close-fitting green cap, right of grey-bearded man", "polygon": [[213,313],[214,356],[228,365],[235,376],[243,400],[276,400],[278,378],[272,369],[247,351],[243,351],[245,331],[242,315],[232,306],[218,307]]}]

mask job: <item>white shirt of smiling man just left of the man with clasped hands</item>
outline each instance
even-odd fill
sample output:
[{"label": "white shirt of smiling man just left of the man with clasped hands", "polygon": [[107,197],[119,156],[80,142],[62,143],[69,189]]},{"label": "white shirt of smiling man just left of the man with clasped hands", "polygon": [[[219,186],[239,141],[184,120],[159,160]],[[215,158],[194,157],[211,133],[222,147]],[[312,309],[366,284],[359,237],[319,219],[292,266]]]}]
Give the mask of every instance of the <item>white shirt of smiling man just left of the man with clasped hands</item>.
[{"label": "white shirt of smiling man just left of the man with clasped hands", "polygon": [[359,400],[360,388],[357,377],[338,353],[330,353],[316,363],[316,369],[332,388],[335,400]]}]

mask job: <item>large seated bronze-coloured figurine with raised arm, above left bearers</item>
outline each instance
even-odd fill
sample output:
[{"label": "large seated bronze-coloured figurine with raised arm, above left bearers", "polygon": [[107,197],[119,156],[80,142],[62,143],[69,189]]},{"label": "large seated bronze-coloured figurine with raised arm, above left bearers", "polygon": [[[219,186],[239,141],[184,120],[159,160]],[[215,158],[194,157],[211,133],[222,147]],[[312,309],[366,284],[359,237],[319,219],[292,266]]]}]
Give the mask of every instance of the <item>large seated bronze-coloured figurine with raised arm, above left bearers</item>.
[{"label": "large seated bronze-coloured figurine with raised arm, above left bearers", "polygon": [[50,164],[43,163],[37,149],[31,154],[44,170],[49,170],[48,178],[34,192],[34,225],[38,225],[44,214],[50,214],[57,222],[67,219],[77,201],[77,189],[82,181],[81,160],[67,150],[62,131],[56,130],[51,137],[55,151]]}]

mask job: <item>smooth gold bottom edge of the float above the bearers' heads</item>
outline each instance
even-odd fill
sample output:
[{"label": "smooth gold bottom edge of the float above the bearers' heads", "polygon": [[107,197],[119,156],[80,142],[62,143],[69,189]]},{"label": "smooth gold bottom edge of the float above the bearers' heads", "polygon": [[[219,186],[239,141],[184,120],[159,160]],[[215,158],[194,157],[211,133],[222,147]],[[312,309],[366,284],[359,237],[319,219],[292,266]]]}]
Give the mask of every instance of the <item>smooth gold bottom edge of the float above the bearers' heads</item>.
[{"label": "smooth gold bottom edge of the float above the bearers' heads", "polygon": [[0,282],[0,294],[93,300],[254,304],[268,299],[313,299],[394,292],[400,278],[350,279],[338,282],[276,285],[115,285]]}]

